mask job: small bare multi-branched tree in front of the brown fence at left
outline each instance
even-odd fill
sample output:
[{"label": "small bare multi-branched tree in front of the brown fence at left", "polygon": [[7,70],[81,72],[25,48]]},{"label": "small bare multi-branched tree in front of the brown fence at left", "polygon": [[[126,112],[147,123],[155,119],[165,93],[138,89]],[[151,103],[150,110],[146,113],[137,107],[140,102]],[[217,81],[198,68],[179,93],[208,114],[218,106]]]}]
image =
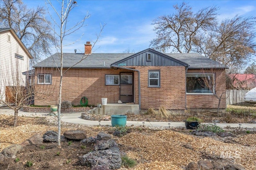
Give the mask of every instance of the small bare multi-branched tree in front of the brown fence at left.
[{"label": "small bare multi-branched tree in front of the brown fence at left", "polygon": [[[10,56],[10,62],[2,61],[0,68],[0,104],[10,107],[14,110],[14,127],[18,123],[18,111],[22,107],[33,104],[34,96],[46,96],[47,86],[44,86],[40,91],[34,89],[33,71],[28,71],[24,75],[21,73],[21,67],[24,63],[19,63],[20,59],[14,59]],[[4,63],[5,62],[5,63]],[[27,66],[28,68],[28,66]],[[44,94],[44,95],[42,95]]]}]

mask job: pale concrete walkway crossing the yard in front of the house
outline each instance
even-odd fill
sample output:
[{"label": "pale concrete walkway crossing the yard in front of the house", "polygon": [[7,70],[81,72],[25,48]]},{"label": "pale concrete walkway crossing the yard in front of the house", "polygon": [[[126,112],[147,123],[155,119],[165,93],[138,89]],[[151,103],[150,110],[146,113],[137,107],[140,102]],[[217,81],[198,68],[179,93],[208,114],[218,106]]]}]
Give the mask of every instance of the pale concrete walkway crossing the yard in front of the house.
[{"label": "pale concrete walkway crossing the yard in front of the house", "polygon": [[[0,114],[14,114],[12,109],[7,107],[0,107]],[[47,115],[47,113],[33,113],[19,110],[19,115]],[[81,113],[62,113],[61,121],[66,123],[74,123],[81,125],[110,125],[111,121],[90,121],[81,118]],[[170,124],[168,124],[170,123]],[[207,123],[206,123],[207,124]],[[127,126],[143,126],[142,121],[127,121]],[[239,123],[216,123],[216,125],[226,127],[239,127]],[[155,126],[155,127],[185,127],[184,122],[149,122],[145,121],[144,126]],[[241,123],[241,128],[256,128],[256,123]]]}]

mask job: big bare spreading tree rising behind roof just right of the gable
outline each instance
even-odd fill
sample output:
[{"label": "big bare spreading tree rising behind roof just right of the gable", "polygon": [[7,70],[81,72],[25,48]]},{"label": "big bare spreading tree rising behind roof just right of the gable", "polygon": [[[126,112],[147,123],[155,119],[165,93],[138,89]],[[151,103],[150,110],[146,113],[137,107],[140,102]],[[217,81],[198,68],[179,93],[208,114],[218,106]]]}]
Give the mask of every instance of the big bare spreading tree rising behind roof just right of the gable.
[{"label": "big bare spreading tree rising behind roof just right of the gable", "polygon": [[174,52],[190,53],[192,41],[199,31],[206,31],[215,24],[216,7],[208,7],[192,12],[186,3],[175,5],[175,14],[160,16],[153,21],[157,37],[151,46],[165,52],[172,48]]}]

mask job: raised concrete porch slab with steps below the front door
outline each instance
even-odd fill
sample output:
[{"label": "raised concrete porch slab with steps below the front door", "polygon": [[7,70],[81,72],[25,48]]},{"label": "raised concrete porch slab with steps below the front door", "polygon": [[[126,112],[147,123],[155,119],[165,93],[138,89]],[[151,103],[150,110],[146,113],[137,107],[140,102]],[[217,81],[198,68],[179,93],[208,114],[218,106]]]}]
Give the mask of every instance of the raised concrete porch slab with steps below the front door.
[{"label": "raised concrete porch slab with steps below the front door", "polygon": [[99,115],[125,115],[127,113],[138,115],[140,114],[140,107],[138,104],[107,104],[97,107],[91,113]]}]

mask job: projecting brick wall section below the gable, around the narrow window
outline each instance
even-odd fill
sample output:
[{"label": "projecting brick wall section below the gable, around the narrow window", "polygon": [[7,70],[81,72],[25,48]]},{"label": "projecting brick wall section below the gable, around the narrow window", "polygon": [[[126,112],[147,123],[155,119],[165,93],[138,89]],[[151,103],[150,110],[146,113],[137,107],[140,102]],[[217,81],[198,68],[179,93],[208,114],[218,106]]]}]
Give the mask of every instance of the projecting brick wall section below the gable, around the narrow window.
[{"label": "projecting brick wall section below the gable, around the narrow window", "polygon": [[[141,109],[185,109],[185,67],[184,66],[142,66],[140,70]],[[148,87],[148,70],[160,70],[160,88]],[[138,99],[138,74],[136,72],[135,92]]]}]

